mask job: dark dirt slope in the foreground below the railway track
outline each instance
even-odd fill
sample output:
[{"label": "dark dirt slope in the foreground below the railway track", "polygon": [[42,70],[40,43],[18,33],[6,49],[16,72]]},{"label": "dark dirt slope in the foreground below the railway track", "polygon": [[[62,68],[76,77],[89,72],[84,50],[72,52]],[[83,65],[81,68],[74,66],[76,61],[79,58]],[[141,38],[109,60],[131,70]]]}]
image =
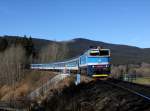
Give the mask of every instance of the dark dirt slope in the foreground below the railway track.
[{"label": "dark dirt slope in the foreground below the railway track", "polygon": [[150,102],[98,80],[55,91],[43,105],[47,111],[150,111]]}]

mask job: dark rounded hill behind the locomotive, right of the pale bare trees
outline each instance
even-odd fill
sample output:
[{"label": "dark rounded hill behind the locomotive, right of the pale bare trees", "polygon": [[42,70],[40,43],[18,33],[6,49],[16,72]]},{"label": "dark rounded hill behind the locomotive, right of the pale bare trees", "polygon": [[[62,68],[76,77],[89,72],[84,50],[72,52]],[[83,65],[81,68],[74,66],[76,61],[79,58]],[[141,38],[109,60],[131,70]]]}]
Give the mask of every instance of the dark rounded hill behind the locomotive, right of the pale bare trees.
[{"label": "dark rounded hill behind the locomotive, right of the pale bare trees", "polygon": [[[111,49],[112,63],[114,64],[136,64],[141,62],[150,63],[150,49],[142,49],[128,45],[116,45],[110,43],[104,43],[100,41],[93,41],[83,38],[74,39],[73,42],[68,42],[71,51],[71,56],[74,53],[79,54],[88,49],[89,46],[102,46],[104,48]],[[78,44],[78,45],[77,45]]]}]

